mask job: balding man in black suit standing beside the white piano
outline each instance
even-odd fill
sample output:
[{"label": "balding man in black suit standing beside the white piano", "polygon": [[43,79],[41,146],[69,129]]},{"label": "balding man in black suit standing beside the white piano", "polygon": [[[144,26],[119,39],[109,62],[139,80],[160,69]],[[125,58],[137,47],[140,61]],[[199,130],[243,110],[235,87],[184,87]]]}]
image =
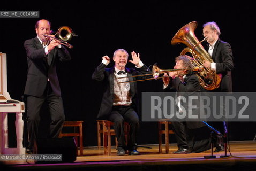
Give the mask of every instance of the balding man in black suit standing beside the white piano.
[{"label": "balding man in black suit standing beside the white piano", "polygon": [[[27,96],[27,120],[29,152],[33,152],[34,141],[38,138],[40,110],[47,102],[51,116],[49,138],[57,138],[65,120],[61,89],[56,73],[56,61],[71,59],[69,51],[59,40],[50,38],[50,22],[39,20],[35,24],[36,37],[24,43],[28,74],[24,94]],[[54,35],[49,35],[54,37]]]}]

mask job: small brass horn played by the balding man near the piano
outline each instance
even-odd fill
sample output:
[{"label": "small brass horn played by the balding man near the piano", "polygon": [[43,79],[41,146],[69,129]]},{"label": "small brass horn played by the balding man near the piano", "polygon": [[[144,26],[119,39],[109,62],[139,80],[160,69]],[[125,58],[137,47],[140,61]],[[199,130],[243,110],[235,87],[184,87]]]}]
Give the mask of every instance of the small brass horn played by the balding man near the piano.
[{"label": "small brass horn played by the balding man near the piano", "polygon": [[[61,34],[63,31],[66,32],[65,36],[62,36],[62,34]],[[62,26],[62,27],[60,27],[58,29],[58,31],[56,32],[56,34],[57,34],[58,38],[49,36],[47,34],[43,34],[43,36],[44,37],[52,38],[52,39],[57,40],[57,41],[60,41],[60,44],[63,44],[65,46],[67,46],[67,48],[70,48],[70,49],[73,48],[73,46],[71,44],[67,43],[67,41],[70,41],[72,37],[78,36],[75,33],[73,33],[73,30],[69,26]]]}]

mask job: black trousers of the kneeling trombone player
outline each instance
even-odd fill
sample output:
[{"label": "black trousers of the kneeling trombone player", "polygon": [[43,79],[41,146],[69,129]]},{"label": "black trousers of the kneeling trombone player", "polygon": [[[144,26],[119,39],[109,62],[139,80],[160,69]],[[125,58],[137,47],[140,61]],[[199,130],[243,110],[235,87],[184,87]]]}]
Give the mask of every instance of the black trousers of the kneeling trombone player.
[{"label": "black trousers of the kneeling trombone player", "polygon": [[200,139],[196,138],[198,129],[189,129],[186,122],[172,122],[175,139],[178,147],[190,149],[191,152],[202,152],[210,149],[210,138]]}]

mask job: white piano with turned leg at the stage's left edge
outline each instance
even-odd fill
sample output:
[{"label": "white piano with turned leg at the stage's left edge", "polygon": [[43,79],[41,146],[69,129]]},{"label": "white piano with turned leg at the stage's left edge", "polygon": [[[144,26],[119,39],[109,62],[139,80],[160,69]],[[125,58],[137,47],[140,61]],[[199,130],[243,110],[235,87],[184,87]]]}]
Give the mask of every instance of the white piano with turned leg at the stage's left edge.
[{"label": "white piano with turned leg at the stage's left edge", "polygon": [[[0,154],[25,154],[23,147],[23,126],[22,112],[24,112],[24,103],[11,99],[7,92],[7,69],[6,54],[0,53]],[[8,113],[16,113],[16,136],[17,147],[8,147]]]}]

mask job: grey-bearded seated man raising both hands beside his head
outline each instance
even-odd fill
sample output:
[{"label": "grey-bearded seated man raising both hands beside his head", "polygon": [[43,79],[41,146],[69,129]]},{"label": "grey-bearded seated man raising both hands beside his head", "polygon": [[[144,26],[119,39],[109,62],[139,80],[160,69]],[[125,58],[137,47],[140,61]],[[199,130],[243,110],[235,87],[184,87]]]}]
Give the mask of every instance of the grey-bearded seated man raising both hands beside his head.
[{"label": "grey-bearded seated man raising both hands beside his head", "polygon": [[[137,84],[132,81],[135,78],[147,78],[150,74],[148,68],[141,62],[139,53],[137,54],[133,51],[131,55],[132,60],[129,60],[129,62],[133,63],[135,68],[125,67],[128,61],[128,53],[124,49],[117,49],[113,55],[115,66],[106,68],[110,63],[110,58],[103,56],[102,63],[97,66],[92,74],[94,81],[103,83],[102,88],[104,91],[97,118],[108,119],[114,122],[114,129],[118,141],[118,156],[125,155],[125,150],[128,150],[131,155],[139,154],[136,145],[136,136],[139,131]],[[148,74],[148,76],[132,77],[133,75],[141,74]],[[130,125],[127,146],[124,136],[124,121]]]}]

